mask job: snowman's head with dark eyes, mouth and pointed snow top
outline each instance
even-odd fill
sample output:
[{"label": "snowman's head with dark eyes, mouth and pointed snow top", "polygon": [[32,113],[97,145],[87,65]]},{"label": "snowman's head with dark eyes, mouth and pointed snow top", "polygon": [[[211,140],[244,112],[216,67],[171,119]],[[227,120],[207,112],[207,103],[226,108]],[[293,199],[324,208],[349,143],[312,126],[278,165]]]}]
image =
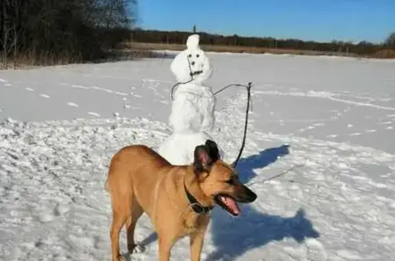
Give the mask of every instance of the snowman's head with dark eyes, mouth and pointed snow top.
[{"label": "snowman's head with dark eyes, mouth and pointed snow top", "polygon": [[178,82],[202,84],[211,76],[213,69],[210,60],[199,47],[200,36],[193,34],[187,40],[187,49],[176,55],[170,69]]}]

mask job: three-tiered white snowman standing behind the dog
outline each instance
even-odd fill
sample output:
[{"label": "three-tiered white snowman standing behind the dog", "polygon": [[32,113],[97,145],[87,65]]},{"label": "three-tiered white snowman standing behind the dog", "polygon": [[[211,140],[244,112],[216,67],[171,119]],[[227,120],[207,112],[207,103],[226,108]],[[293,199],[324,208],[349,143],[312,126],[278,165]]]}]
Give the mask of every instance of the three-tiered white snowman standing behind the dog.
[{"label": "three-tiered white snowman standing behind the dog", "polygon": [[[173,133],[158,148],[158,153],[174,165],[191,164],[197,145],[212,139],[208,135],[215,124],[215,96],[211,87],[204,86],[213,69],[210,60],[199,47],[200,36],[187,39],[187,49],[171,62],[171,72],[176,76],[178,88],[171,105],[169,124]],[[219,149],[224,156],[222,149]]]}]

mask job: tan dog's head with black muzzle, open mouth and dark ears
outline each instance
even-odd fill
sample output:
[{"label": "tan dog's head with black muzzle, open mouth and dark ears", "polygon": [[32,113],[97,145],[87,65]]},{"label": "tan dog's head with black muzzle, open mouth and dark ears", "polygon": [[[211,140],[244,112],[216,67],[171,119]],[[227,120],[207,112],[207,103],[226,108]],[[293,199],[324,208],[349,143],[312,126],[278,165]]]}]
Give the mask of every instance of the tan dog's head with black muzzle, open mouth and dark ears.
[{"label": "tan dog's head with black muzzle, open mouth and dark ears", "polygon": [[237,171],[219,158],[217,144],[212,140],[195,147],[193,171],[204,195],[232,216],[240,213],[237,202],[251,203],[256,199],[256,194],[241,184]]}]

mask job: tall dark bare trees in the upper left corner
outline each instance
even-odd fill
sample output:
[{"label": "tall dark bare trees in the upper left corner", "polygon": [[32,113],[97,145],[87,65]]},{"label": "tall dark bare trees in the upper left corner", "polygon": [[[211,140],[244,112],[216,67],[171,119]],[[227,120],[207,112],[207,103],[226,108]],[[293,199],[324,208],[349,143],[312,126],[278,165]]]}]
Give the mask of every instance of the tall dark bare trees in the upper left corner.
[{"label": "tall dark bare trees in the upper left corner", "polygon": [[36,64],[103,58],[129,40],[136,0],[1,0],[0,59]]}]

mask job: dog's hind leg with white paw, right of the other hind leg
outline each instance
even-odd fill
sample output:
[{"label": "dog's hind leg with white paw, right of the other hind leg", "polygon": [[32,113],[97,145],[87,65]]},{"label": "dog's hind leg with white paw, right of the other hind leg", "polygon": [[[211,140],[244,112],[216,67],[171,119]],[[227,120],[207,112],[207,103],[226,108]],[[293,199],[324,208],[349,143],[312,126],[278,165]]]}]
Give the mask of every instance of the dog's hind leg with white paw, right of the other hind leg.
[{"label": "dog's hind leg with white paw, right of the other hind leg", "polygon": [[141,208],[136,199],[132,199],[132,211],[125,223],[129,253],[144,251],[143,246],[136,245],[134,242],[134,229],[136,228],[136,223],[142,214],[143,208]]}]

